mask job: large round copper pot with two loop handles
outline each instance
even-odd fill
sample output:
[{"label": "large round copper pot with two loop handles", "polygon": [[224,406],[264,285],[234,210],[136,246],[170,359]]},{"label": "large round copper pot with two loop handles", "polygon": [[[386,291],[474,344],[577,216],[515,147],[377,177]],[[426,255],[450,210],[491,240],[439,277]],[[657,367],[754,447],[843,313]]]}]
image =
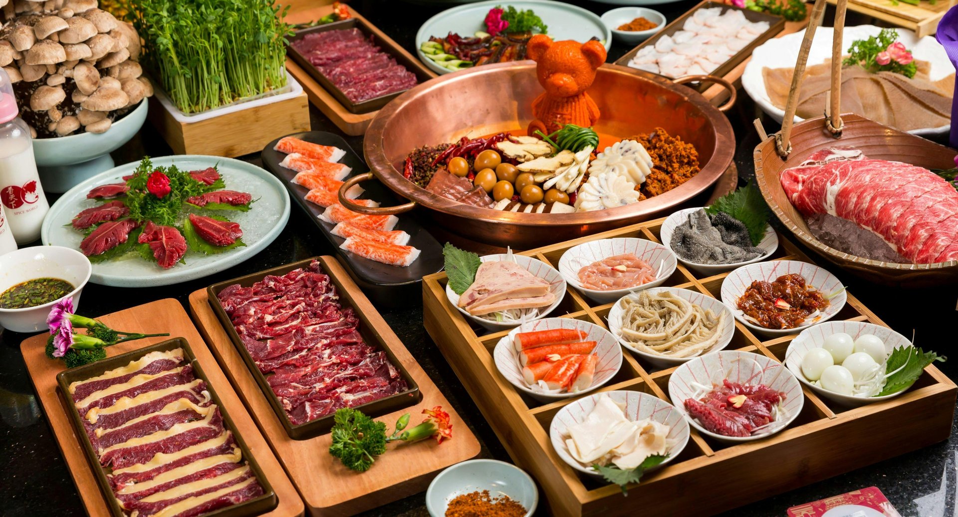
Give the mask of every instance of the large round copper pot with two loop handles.
[{"label": "large round copper pot with two loop handles", "polygon": [[[672,191],[624,207],[574,214],[516,214],[452,201],[402,176],[405,157],[416,147],[525,128],[533,118],[532,101],[541,92],[536,63],[520,61],[456,72],[402,94],[379,110],[366,131],[363,151],[376,178],[412,202],[382,209],[354,204],[350,208],[366,214],[399,214],[418,206],[454,235],[529,249],[671,213],[674,207],[708,190],[732,163],[732,126],[719,108],[668,79],[604,64],[588,90],[602,110],[596,130],[626,138],[663,127],[696,146],[701,171],[695,177]],[[734,101],[733,96],[722,109]],[[360,175],[349,183],[370,177]]]}]

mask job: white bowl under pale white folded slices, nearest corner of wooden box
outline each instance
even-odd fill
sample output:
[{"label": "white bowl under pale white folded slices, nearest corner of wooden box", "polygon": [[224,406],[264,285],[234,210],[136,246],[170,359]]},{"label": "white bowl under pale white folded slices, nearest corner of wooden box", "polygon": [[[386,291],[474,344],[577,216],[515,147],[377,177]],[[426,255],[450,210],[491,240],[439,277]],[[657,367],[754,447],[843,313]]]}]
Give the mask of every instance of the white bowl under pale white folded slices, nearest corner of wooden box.
[{"label": "white bowl under pale white folded slices, nearest corner of wooden box", "polygon": [[556,449],[559,458],[568,463],[572,468],[583,474],[600,477],[599,473],[592,470],[591,465],[583,465],[572,458],[569,454],[569,449],[565,446],[565,439],[567,438],[566,430],[569,426],[582,422],[592,411],[592,408],[596,406],[597,397],[603,394],[607,394],[614,402],[620,404],[625,403],[626,417],[633,422],[651,418],[656,422],[669,426],[669,435],[666,437],[666,439],[671,440],[668,451],[669,456],[665,461],[659,463],[658,466],[673,461],[681,454],[682,449],[684,449],[685,445],[689,442],[689,423],[678,409],[665,400],[642,392],[614,391],[595,393],[582,398],[582,400],[576,401],[575,404],[566,404],[563,406],[562,409],[559,410],[559,413],[553,417],[552,424],[549,425],[549,438],[552,440],[552,447]]}]

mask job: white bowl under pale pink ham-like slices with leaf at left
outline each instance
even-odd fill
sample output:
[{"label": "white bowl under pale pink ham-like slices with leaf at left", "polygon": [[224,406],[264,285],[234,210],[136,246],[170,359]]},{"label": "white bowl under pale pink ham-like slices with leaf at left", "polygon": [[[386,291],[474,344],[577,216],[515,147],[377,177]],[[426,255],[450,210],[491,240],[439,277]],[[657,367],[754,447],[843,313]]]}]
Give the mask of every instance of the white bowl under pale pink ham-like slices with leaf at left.
[{"label": "white bowl under pale pink ham-like slices with leaf at left", "polygon": [[[452,305],[456,307],[456,310],[461,312],[463,316],[465,316],[468,320],[476,323],[479,326],[482,326],[483,328],[486,328],[491,331],[496,331],[496,330],[503,330],[506,328],[512,328],[513,326],[520,326],[524,323],[534,322],[536,320],[541,320],[542,318],[545,318],[546,316],[548,316],[549,313],[551,313],[553,310],[555,310],[556,307],[559,306],[559,303],[562,303],[562,299],[565,297],[566,283],[564,280],[562,280],[562,276],[559,275],[559,271],[557,271],[556,268],[550,266],[549,264],[543,262],[542,260],[539,260],[538,258],[526,257],[524,255],[515,255],[513,253],[500,253],[495,255],[487,255],[485,257],[480,257],[479,259],[482,260],[484,263],[485,262],[500,262],[500,261],[513,262],[514,264],[518,265],[519,268],[529,273],[532,273],[534,277],[541,279],[543,281],[546,281],[546,283],[548,283],[547,292],[554,297],[554,300],[550,304],[546,306],[524,309],[522,310],[521,314],[516,314],[515,318],[496,319],[496,317],[494,316],[495,313],[490,313],[483,316],[476,316],[471,314],[468,310],[464,309],[463,307],[459,306],[460,295],[456,294],[452,290],[452,288],[449,287],[449,284],[446,283],[445,295],[448,297],[449,303],[452,303]],[[512,266],[509,266],[509,267],[512,268]],[[480,266],[480,269],[483,269],[482,266]],[[480,272],[476,273],[477,281],[493,281],[494,282],[496,280],[496,277],[500,277],[500,278],[503,277],[501,274],[493,274],[488,279],[482,279],[482,278],[479,278],[479,273]],[[502,272],[499,272],[499,273],[502,273]],[[508,279],[508,277],[505,277],[505,278]],[[491,286],[498,287],[499,289],[502,289],[504,291],[512,290],[516,294],[520,294],[520,293],[515,291],[515,289],[525,288],[525,290],[529,291],[530,294],[536,294],[536,297],[544,296],[544,295],[537,294],[541,292],[540,289],[537,289],[536,287],[530,287],[529,285],[525,285],[525,286],[513,285],[513,287],[509,287],[508,285],[492,284]],[[468,291],[464,292],[463,294],[465,295],[466,293],[468,293]],[[502,301],[502,300],[503,299],[501,298],[499,299],[499,301]],[[492,303],[496,303],[496,301],[493,300]],[[517,311],[516,309],[512,309],[512,312],[515,313]]]}]

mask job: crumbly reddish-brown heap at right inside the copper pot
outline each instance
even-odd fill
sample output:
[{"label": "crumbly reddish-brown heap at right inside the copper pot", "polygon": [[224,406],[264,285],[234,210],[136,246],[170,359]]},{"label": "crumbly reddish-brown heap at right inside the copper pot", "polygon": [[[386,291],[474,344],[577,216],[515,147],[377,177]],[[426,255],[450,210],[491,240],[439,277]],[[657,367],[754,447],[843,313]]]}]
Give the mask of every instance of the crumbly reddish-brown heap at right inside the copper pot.
[{"label": "crumbly reddish-brown heap at right inside the copper pot", "polygon": [[652,172],[646,176],[640,189],[644,196],[641,199],[671,191],[692,179],[700,170],[696,146],[670,136],[661,127],[656,127],[648,135],[636,135],[632,140],[642,144],[652,159]]}]

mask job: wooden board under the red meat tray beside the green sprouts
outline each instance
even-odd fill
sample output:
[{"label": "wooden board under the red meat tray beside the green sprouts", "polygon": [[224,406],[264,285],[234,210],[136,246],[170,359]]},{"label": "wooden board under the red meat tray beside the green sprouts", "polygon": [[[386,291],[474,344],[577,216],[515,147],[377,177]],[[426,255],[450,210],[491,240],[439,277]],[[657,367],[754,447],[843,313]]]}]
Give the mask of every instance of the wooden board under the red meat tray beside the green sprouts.
[{"label": "wooden board under the red meat tray beside the green sprouts", "polygon": [[[296,24],[296,23],[307,23],[313,20],[318,20],[323,16],[332,13],[332,6],[319,6],[312,7],[308,3],[302,3],[303,5],[297,5],[294,3],[289,10],[289,13],[286,14],[285,21],[286,23]],[[409,61],[417,67],[417,75],[425,74],[427,77],[435,78],[436,73],[432,70],[426,68],[424,64],[419,60],[418,57],[409,54],[408,51],[399,46],[399,43],[393,40],[382,31],[380,31],[375,25],[369,23],[369,20],[364,18],[362,14],[359,14],[355,11],[353,6],[348,6],[350,13],[353,14],[353,17],[363,21],[367,26],[369,26],[370,33],[374,34],[376,38],[380,39],[384,45],[388,45],[393,48],[393,50],[403,56],[407,56]],[[323,112],[323,115],[326,115],[332,121],[332,124],[336,124],[336,127],[339,127],[344,133],[351,136],[358,136],[366,132],[366,127],[369,126],[369,123],[373,121],[373,118],[376,117],[376,113],[379,111],[371,111],[369,113],[352,113],[350,110],[346,109],[342,103],[336,100],[330,92],[326,90],[316,79],[312,79],[309,76],[306,70],[293,61],[290,58],[286,58],[286,70],[296,80],[303,85],[303,89],[306,90],[306,93],[309,97],[309,101],[312,102],[314,106],[319,108]],[[277,132],[274,134],[286,134],[293,133],[295,131],[286,131]],[[268,142],[268,141],[267,141]],[[262,147],[262,146],[261,146]]]}]

